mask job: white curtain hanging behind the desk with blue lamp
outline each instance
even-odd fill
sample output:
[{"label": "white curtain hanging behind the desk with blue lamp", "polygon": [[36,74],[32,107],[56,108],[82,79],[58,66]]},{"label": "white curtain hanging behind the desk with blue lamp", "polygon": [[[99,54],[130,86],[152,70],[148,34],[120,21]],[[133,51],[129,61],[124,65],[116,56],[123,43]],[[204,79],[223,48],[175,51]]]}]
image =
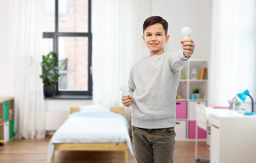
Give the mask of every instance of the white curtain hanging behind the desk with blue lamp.
[{"label": "white curtain hanging behind the desk with blue lamp", "polygon": [[[209,106],[249,89],[256,98],[256,3],[254,0],[213,0]],[[246,99],[251,102],[251,99]]]}]

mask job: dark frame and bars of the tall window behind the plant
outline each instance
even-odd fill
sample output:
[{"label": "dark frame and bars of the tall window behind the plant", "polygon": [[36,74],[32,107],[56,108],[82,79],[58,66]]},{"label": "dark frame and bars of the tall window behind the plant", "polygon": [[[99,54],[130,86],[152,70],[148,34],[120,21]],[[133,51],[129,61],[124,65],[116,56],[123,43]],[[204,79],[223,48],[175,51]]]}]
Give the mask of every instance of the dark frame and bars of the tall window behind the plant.
[{"label": "dark frame and bars of the tall window behind the plant", "polygon": [[59,33],[59,9],[58,4],[59,0],[55,0],[55,32],[44,32],[43,38],[51,38],[53,39],[53,50],[57,55],[57,60],[59,60],[59,37],[88,37],[88,91],[74,91],[74,90],[61,90],[59,91],[59,82],[57,82],[57,89],[55,92],[55,96],[53,98],[63,98],[65,96],[67,98],[78,98],[80,99],[82,96],[86,99],[91,99],[93,95],[93,77],[91,72],[91,62],[92,62],[92,41],[93,35],[91,32],[91,0],[88,0],[88,32],[87,33]]}]

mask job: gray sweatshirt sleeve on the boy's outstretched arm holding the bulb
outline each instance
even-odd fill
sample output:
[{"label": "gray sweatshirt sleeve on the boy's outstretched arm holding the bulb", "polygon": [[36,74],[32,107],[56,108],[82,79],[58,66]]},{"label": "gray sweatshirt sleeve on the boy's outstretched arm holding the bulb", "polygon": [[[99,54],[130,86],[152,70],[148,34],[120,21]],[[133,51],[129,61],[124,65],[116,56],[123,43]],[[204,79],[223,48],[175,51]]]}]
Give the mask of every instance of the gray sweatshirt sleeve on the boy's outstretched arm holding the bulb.
[{"label": "gray sweatshirt sleeve on the boy's outstretched arm holding the bulb", "polygon": [[183,50],[172,52],[168,58],[170,69],[180,72],[181,69],[187,65],[189,58],[183,54]]}]

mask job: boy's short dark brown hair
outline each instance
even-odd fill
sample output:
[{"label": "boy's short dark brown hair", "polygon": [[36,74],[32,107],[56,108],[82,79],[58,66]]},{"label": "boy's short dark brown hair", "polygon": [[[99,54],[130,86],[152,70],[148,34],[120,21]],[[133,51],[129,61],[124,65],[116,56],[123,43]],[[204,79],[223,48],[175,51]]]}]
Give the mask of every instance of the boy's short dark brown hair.
[{"label": "boy's short dark brown hair", "polygon": [[161,16],[150,16],[149,18],[147,18],[144,21],[144,24],[143,24],[143,35],[144,35],[145,29],[148,26],[156,24],[156,23],[160,23],[160,24],[163,25],[163,29],[165,30],[165,35],[167,35],[168,22],[166,20],[164,20]]}]

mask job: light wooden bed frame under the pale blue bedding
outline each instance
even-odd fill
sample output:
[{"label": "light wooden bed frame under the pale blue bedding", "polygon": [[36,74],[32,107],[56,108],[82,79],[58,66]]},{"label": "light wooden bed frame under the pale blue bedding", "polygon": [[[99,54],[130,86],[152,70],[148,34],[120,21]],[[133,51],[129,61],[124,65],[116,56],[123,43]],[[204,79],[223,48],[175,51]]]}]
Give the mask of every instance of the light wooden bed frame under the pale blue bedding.
[{"label": "light wooden bed frame under the pale blue bedding", "polygon": [[[71,107],[70,114],[78,112],[79,107]],[[111,111],[125,116],[123,107],[111,107]],[[55,150],[62,151],[125,151],[125,163],[128,163],[127,143],[54,143],[51,163],[54,163]]]}]

